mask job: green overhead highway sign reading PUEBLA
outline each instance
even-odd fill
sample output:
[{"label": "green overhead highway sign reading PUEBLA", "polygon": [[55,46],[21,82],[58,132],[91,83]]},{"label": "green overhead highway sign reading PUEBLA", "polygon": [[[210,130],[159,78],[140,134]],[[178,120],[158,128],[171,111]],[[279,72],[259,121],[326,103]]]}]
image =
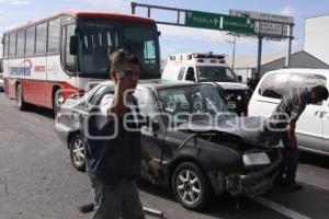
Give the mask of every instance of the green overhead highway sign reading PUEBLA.
[{"label": "green overhead highway sign reading PUEBLA", "polygon": [[190,27],[229,31],[243,34],[254,33],[254,24],[250,19],[200,11],[188,11],[185,15],[185,25]]}]

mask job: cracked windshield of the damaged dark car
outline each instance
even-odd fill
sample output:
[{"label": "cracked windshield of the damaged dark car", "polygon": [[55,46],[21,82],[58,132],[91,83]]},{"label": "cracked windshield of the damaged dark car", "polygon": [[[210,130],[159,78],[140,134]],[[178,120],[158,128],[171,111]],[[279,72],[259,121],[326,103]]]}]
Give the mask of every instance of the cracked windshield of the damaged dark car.
[{"label": "cracked windshield of the damaged dark car", "polygon": [[158,97],[162,111],[178,125],[188,120],[202,120],[209,117],[213,119],[231,114],[218,88],[212,84],[161,89],[158,91]]}]

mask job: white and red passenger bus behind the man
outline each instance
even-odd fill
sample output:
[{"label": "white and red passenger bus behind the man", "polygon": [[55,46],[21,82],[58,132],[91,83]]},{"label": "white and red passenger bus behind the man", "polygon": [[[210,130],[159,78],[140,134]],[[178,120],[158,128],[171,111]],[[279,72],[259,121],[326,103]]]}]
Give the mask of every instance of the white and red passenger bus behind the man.
[{"label": "white and red passenger bus behind the man", "polygon": [[159,79],[159,32],[155,21],[124,14],[64,11],[7,31],[3,88],[18,107],[53,108],[73,93],[109,79],[107,54],[125,48],[141,66],[140,79]]}]

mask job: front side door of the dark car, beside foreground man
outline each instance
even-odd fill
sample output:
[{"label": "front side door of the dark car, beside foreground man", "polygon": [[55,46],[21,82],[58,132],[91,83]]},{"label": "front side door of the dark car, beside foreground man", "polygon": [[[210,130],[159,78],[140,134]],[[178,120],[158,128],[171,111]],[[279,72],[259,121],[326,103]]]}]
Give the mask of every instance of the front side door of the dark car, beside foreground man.
[{"label": "front side door of the dark car, beside foreground man", "polygon": [[146,122],[146,125],[141,127],[141,145],[150,157],[160,163],[166,127],[161,118],[156,115],[155,95],[148,89],[137,89],[134,95],[138,101],[140,115]]}]

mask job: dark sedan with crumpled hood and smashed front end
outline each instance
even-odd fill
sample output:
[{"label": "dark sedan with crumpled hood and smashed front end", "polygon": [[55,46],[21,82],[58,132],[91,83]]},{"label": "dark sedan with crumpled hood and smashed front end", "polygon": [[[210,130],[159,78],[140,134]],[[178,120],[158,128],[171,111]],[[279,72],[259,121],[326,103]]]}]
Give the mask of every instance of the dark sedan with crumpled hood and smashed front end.
[{"label": "dark sedan with crumpled hood and smashed front end", "polygon": [[[67,100],[56,116],[56,129],[79,171],[90,137],[86,120],[91,113],[106,120],[101,103],[112,94],[110,83],[101,83]],[[140,83],[134,95],[146,122],[141,143],[160,165],[158,185],[172,189],[185,208],[201,209],[225,193],[259,195],[272,185],[282,160],[277,132],[264,118],[231,114],[216,84]],[[141,178],[149,180],[143,168]]]}]

